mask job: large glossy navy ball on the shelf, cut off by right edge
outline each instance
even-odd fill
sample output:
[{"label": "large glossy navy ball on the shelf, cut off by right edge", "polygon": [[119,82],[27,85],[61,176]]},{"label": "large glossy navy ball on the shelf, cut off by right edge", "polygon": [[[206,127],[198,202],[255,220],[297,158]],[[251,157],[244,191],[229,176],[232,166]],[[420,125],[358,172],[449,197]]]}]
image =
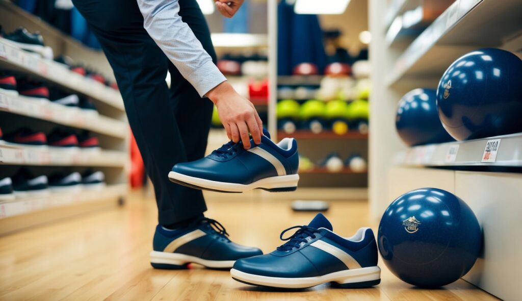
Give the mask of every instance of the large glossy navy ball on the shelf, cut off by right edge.
[{"label": "large glossy navy ball on the shelf, cut off by right edge", "polygon": [[494,48],[459,57],[438,83],[437,105],[457,140],[522,132],[522,61]]}]

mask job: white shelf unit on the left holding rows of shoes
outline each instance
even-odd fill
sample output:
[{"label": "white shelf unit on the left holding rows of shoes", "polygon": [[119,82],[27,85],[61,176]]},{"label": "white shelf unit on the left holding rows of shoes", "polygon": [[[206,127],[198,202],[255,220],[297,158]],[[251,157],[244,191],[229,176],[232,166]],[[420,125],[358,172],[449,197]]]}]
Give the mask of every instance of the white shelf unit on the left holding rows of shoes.
[{"label": "white shelf unit on the left holding rows of shoes", "polygon": [[[38,17],[28,14],[15,4],[0,1],[0,19],[5,31],[19,26],[29,31],[40,31],[54,55],[68,55],[77,63],[101,70],[112,78],[112,71],[101,51],[88,49],[65,36]],[[129,128],[120,92],[91,78],[69,70],[66,65],[43,59],[23,51],[0,38],[0,70],[42,80],[42,82],[92,99],[98,113],[58,105],[46,99],[35,99],[0,92],[0,126],[4,134],[22,126],[47,132],[56,126],[88,130],[99,138],[102,148],[34,147],[0,141],[0,172],[12,175],[18,167],[29,167],[48,174],[59,170],[81,171],[87,168],[105,173],[106,187],[80,193],[50,193],[28,196],[0,203],[0,234],[54,219],[73,216],[89,210],[98,210],[127,195],[129,165]],[[9,122],[6,124],[6,122]]]}]

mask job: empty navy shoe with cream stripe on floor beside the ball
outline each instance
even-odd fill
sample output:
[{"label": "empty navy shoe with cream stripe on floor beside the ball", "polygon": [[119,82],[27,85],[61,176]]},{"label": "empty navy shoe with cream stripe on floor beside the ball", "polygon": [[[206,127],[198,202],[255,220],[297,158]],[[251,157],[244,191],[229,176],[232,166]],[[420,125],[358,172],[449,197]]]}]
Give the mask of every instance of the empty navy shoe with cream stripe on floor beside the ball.
[{"label": "empty navy shoe with cream stripe on floor beside the ball", "polygon": [[[298,230],[283,238],[286,231]],[[333,233],[330,222],[319,213],[308,226],[284,230],[288,240],[277,250],[262,256],[241,259],[230,271],[232,278],[251,285],[306,288],[331,282],[333,286],[360,288],[381,282],[377,267],[377,244],[370,228],[360,228],[354,236]]]}]

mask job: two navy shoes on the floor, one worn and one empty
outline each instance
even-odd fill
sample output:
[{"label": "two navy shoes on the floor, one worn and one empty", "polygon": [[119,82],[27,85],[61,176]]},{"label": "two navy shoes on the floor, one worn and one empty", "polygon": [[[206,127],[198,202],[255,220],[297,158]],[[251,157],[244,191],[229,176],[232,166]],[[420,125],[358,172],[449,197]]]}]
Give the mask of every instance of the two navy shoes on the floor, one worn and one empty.
[{"label": "two navy shoes on the floor, one worn and one empty", "polygon": [[[286,231],[298,229],[283,238]],[[158,225],[150,253],[156,269],[183,269],[188,263],[207,268],[232,268],[232,278],[251,285],[306,288],[331,282],[333,286],[370,287],[381,282],[377,266],[377,244],[372,229],[360,228],[343,238],[333,232],[319,213],[307,226],[284,230],[287,240],[269,254],[243,247],[228,238],[224,227],[213,219],[201,218],[182,229]]]}]

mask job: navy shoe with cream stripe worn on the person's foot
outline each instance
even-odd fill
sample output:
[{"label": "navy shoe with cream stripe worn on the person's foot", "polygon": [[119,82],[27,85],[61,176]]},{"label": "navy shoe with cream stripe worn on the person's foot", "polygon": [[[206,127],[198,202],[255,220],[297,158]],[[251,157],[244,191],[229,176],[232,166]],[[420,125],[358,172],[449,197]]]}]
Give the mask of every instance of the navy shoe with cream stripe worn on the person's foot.
[{"label": "navy shoe with cream stripe worn on the person's foot", "polygon": [[235,244],[217,221],[203,217],[185,228],[156,227],[150,264],[155,269],[184,269],[197,263],[212,269],[230,269],[241,258],[261,255],[258,248]]}]

